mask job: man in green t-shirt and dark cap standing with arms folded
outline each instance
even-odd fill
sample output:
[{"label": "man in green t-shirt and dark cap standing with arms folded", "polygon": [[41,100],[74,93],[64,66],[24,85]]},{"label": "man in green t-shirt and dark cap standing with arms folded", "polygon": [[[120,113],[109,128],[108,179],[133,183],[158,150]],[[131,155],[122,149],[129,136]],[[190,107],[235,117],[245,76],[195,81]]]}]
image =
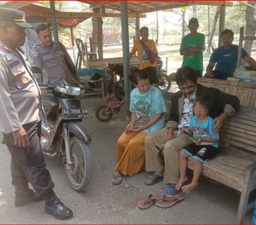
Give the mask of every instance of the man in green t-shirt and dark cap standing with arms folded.
[{"label": "man in green t-shirt and dark cap standing with arms folded", "polygon": [[188,22],[190,34],[181,41],[180,55],[183,55],[182,66],[187,65],[196,70],[197,76],[203,75],[203,51],[205,49],[205,36],[197,32],[198,20],[191,18]]}]

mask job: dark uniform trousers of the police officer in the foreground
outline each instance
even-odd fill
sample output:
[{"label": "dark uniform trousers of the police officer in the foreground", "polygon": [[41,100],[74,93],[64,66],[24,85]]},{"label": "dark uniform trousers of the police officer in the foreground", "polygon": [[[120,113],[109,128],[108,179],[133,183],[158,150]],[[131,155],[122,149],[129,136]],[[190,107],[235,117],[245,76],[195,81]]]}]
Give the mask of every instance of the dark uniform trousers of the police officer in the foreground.
[{"label": "dark uniform trousers of the police officer in the foreground", "polygon": [[40,145],[41,122],[23,125],[26,130],[29,145],[19,147],[14,145],[12,133],[4,134],[3,144],[7,145],[11,153],[12,184],[24,189],[28,182],[41,197],[51,191],[54,183],[50,172],[46,169],[43,151]]}]

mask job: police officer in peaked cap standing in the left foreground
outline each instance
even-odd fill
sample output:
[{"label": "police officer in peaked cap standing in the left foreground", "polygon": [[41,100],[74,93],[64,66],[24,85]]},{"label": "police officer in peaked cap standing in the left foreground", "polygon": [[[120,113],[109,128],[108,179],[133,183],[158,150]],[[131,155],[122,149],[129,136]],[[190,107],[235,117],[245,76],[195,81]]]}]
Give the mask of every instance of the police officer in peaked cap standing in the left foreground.
[{"label": "police officer in peaked cap standing in the left foreground", "polygon": [[[19,10],[0,8],[0,131],[11,153],[14,205],[45,201],[44,210],[57,219],[69,219],[73,212],[53,191],[39,137],[44,118],[42,96],[25,56],[26,28],[33,28]],[[28,183],[36,193],[29,189]]]}]

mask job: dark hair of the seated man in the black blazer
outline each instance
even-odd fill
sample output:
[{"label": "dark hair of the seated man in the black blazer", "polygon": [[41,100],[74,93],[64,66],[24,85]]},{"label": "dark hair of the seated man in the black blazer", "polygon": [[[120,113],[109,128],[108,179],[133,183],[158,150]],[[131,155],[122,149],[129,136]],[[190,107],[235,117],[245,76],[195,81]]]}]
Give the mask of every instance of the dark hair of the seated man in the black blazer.
[{"label": "dark hair of the seated man in the black blazer", "polygon": [[186,84],[188,80],[191,80],[196,84],[197,74],[195,70],[185,65],[177,70],[175,74],[175,81],[178,86],[181,86]]}]

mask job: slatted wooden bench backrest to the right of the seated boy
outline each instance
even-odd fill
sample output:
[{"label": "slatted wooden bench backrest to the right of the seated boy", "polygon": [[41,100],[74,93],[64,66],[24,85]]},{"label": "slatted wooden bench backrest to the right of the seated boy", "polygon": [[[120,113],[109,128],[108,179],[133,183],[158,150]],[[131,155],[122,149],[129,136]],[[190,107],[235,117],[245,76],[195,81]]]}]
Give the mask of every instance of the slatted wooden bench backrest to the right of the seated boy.
[{"label": "slatted wooden bench backrest to the right of the seated boy", "polygon": [[256,153],[256,109],[241,106],[220,132],[220,147]]}]

